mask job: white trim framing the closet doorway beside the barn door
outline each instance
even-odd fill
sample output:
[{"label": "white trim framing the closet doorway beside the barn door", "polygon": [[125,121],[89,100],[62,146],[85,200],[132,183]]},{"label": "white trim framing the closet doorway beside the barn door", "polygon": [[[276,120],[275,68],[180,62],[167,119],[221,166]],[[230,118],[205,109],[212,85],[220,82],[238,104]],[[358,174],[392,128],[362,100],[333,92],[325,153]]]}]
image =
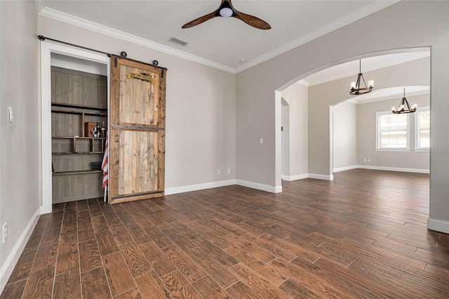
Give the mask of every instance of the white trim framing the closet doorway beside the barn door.
[{"label": "white trim framing the closet doorway beside the barn door", "polygon": [[[107,66],[107,108],[109,111],[109,76],[110,62],[109,57],[82,51],[76,48],[61,46],[59,44],[41,41],[41,98],[39,107],[41,109],[39,128],[39,175],[41,185],[41,214],[51,213],[52,211],[52,180],[51,180],[51,54],[77,58],[80,60],[89,60],[102,63]],[[109,119],[108,119],[109,121]]]}]

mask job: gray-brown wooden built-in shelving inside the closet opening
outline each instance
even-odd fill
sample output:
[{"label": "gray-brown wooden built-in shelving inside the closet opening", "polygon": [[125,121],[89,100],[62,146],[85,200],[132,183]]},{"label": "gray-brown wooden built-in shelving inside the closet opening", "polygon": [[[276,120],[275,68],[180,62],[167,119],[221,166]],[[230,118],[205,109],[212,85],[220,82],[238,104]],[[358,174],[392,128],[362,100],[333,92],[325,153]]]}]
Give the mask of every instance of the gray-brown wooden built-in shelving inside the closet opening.
[{"label": "gray-brown wooden built-in shelving inside the closet opening", "polygon": [[107,128],[107,77],[52,67],[51,142],[53,203],[102,197],[101,162],[106,138],[86,132],[85,123]]}]

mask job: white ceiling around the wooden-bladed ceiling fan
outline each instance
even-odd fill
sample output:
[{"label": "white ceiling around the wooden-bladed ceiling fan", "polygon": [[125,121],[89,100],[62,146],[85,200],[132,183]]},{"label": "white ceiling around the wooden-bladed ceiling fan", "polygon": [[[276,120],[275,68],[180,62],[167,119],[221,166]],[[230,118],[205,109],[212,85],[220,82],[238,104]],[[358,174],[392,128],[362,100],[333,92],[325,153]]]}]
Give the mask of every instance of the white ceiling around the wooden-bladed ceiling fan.
[{"label": "white ceiling around the wooden-bladed ceiling fan", "polygon": [[[236,18],[213,18],[189,29],[181,28],[215,11],[220,0],[35,0],[41,15],[121,39],[138,40],[150,48],[228,72],[252,67],[397,1],[234,0],[238,11],[262,18],[272,26],[260,30]],[[182,47],[170,43],[170,36],[189,44]],[[132,54],[128,52],[128,58],[133,58]],[[240,62],[241,58],[246,62]],[[163,61],[159,64],[163,66]]]}]

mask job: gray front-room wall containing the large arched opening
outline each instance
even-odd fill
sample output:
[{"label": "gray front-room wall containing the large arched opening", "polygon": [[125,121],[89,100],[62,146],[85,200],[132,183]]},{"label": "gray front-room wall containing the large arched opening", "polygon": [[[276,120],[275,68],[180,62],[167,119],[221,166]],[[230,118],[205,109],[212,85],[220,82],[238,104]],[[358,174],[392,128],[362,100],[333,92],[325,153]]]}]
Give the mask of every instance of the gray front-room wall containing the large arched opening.
[{"label": "gray front-room wall containing the large arched opening", "polygon": [[[369,32],[368,38],[362,42],[354,39],[364,31]],[[276,153],[276,142],[280,142],[276,124],[280,125],[277,119],[280,119],[281,102],[274,100],[274,91],[282,91],[313,72],[372,53],[431,46],[431,147],[436,150],[431,152],[430,218],[449,222],[448,32],[448,1],[400,1],[237,74],[237,179],[274,187],[281,185],[277,175],[280,159],[276,161],[280,157]],[[376,86],[382,82],[374,79]],[[398,84],[401,83],[396,81],[395,85]],[[382,85],[388,87],[388,82]],[[342,90],[335,91],[337,98],[344,98],[347,86],[349,82],[340,85]],[[309,99],[310,95],[311,88]],[[328,106],[334,103],[326,98],[317,102],[309,100],[309,135],[323,136],[314,147],[309,142],[309,173],[331,174],[329,117],[319,117],[319,114],[328,111]],[[279,115],[275,114],[278,110]],[[311,127],[316,130],[311,131]],[[261,135],[266,140],[264,147],[257,144]]]}]

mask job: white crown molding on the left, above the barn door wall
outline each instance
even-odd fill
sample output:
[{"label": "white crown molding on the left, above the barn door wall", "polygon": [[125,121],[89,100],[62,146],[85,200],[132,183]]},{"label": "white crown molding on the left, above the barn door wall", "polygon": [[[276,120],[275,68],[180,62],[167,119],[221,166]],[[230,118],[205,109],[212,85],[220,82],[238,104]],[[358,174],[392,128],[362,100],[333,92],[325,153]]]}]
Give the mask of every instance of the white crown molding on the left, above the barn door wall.
[{"label": "white crown molding on the left, above the barn door wall", "polygon": [[95,22],[84,20],[82,18],[77,18],[73,15],[68,15],[67,13],[61,13],[60,11],[55,11],[51,8],[46,8],[42,0],[35,0],[34,2],[36,4],[36,8],[38,10],[39,15],[42,15],[44,17],[51,18],[53,20],[58,20],[60,22],[66,22],[67,24],[74,25],[76,27],[88,29],[93,32],[105,34],[107,36],[111,36],[116,39],[128,41],[130,43],[137,44],[139,46],[144,46],[146,48],[151,48],[153,50],[160,51],[162,53],[173,55],[179,58],[183,58],[185,60],[197,62],[201,65],[206,65],[208,67],[213,67],[215,69],[220,69],[225,72],[236,74],[236,69],[234,69],[234,67],[228,67],[227,65],[222,65],[221,63],[214,62],[212,60],[208,60],[193,54],[179,51],[174,48],[158,44],[154,41],[149,41],[148,39],[142,39],[141,37],[135,36],[133,34],[128,34],[126,32],[122,32],[117,29],[112,29],[110,27],[97,24]]}]

